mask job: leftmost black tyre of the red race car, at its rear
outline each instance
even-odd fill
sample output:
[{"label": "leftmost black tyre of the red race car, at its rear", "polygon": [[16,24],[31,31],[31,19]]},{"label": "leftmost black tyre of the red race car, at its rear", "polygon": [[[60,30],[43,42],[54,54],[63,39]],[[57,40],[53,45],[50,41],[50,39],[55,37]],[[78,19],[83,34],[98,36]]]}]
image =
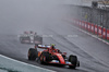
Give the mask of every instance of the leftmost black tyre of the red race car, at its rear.
[{"label": "leftmost black tyre of the red race car, at its rear", "polygon": [[37,49],[29,48],[29,50],[28,50],[28,60],[36,60],[37,57],[38,57]]}]

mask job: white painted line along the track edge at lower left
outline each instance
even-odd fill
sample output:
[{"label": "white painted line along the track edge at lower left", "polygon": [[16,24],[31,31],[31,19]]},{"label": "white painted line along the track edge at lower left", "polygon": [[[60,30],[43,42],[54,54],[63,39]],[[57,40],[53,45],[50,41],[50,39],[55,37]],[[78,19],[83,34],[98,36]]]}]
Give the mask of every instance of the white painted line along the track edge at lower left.
[{"label": "white painted line along the track edge at lower left", "polygon": [[9,60],[12,60],[14,62],[19,62],[19,63],[25,64],[25,65],[29,65],[29,67],[33,67],[33,68],[36,68],[36,69],[41,69],[41,70],[46,70],[46,71],[49,71],[49,72],[57,72],[57,71],[53,71],[53,70],[44,69],[44,68],[40,68],[40,67],[36,67],[36,65],[33,65],[33,64],[28,64],[28,63],[25,63],[25,62],[22,62],[22,61],[19,61],[19,60],[15,60],[15,59],[5,57],[3,55],[0,55],[0,57],[5,58],[5,59],[9,59]]}]

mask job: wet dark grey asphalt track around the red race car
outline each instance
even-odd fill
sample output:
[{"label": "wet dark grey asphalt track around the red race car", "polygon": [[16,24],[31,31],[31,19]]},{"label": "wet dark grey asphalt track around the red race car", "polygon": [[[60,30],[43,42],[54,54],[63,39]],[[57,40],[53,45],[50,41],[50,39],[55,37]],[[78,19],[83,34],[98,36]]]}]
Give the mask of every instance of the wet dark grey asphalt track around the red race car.
[{"label": "wet dark grey asphalt track around the red race car", "polygon": [[[69,69],[68,67],[63,68],[63,67],[56,67],[56,65],[41,65],[38,64],[36,61],[28,61],[27,50],[29,47],[34,47],[34,45],[20,44],[16,35],[0,35],[0,40],[1,40],[0,53],[23,62],[27,62],[31,64],[51,69],[59,72],[66,72],[66,71],[68,72],[108,72],[109,71],[108,69],[109,65],[107,65],[109,63],[108,45],[98,41],[97,39],[84,33],[81,33],[77,29],[74,29],[71,24],[68,24],[64,21],[58,25],[62,25],[62,26],[59,26],[59,29],[45,28],[45,33],[46,33],[45,35],[52,35],[52,37],[44,37],[44,44],[52,43],[57,45],[57,48],[61,49],[62,51],[66,51],[68,55],[72,55],[72,53],[76,55],[78,57],[78,60],[81,61],[81,67],[77,68],[76,70]],[[76,35],[76,36],[69,37],[68,35]],[[96,48],[93,49],[93,47]],[[94,53],[95,51],[97,52]],[[101,57],[105,59],[100,60],[99,58]],[[105,63],[101,61],[104,61]]]}]

